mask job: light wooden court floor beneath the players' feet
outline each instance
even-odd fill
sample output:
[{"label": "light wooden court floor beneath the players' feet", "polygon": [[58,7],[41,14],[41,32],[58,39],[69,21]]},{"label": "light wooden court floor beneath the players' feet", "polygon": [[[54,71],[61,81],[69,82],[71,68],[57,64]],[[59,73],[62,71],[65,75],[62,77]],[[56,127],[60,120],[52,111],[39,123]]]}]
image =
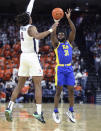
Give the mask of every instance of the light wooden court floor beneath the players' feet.
[{"label": "light wooden court floor beneath the players' feet", "polygon": [[53,104],[43,104],[46,124],[42,124],[32,116],[34,104],[15,104],[13,122],[7,122],[4,115],[6,104],[0,103],[0,131],[101,131],[101,105],[76,104],[75,124],[65,114],[68,104],[59,105],[62,121],[56,124],[52,119],[53,107]]}]

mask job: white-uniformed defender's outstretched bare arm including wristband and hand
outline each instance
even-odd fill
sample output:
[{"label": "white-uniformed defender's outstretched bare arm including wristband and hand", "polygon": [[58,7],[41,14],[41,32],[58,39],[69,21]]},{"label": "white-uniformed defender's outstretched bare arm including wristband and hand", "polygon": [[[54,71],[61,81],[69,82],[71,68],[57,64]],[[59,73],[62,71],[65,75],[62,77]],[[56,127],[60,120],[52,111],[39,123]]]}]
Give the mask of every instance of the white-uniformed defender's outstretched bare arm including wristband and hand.
[{"label": "white-uniformed defender's outstretched bare arm including wristband and hand", "polygon": [[48,31],[41,32],[41,33],[38,32],[38,30],[35,26],[30,26],[28,29],[28,34],[29,34],[29,36],[31,36],[35,39],[43,39],[44,37],[46,37],[50,33],[52,33],[56,29],[57,26],[58,26],[58,24],[54,23],[51,29],[49,29]]}]

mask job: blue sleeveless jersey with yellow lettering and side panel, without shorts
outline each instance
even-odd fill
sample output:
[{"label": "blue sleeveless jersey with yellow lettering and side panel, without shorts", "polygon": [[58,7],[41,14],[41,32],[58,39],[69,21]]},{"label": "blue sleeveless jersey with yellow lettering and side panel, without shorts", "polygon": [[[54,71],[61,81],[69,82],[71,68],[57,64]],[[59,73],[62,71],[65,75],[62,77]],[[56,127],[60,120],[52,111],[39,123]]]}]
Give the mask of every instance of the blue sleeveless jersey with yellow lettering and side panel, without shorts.
[{"label": "blue sleeveless jersey with yellow lettering and side panel, without shorts", "polygon": [[72,46],[69,41],[59,43],[55,49],[56,63],[69,64],[72,62]]}]

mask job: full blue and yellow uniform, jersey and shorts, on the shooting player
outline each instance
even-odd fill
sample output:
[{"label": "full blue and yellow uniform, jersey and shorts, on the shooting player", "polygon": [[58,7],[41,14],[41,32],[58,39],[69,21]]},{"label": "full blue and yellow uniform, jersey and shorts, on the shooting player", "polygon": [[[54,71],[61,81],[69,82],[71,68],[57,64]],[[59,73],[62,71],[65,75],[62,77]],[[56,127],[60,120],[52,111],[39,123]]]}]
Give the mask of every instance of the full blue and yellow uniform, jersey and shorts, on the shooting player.
[{"label": "full blue and yellow uniform, jersey and shorts, on the shooting player", "polygon": [[73,73],[72,46],[69,41],[59,43],[55,49],[56,68],[55,68],[55,85],[56,86],[74,86],[75,78]]}]

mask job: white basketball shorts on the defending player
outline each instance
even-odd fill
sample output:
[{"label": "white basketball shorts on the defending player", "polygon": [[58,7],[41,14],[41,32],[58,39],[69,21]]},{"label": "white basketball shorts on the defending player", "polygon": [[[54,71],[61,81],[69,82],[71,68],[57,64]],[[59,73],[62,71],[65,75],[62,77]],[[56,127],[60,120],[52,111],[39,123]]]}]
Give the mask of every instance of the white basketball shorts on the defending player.
[{"label": "white basketball shorts on the defending player", "polygon": [[36,53],[22,53],[18,76],[43,76],[38,56]]}]

